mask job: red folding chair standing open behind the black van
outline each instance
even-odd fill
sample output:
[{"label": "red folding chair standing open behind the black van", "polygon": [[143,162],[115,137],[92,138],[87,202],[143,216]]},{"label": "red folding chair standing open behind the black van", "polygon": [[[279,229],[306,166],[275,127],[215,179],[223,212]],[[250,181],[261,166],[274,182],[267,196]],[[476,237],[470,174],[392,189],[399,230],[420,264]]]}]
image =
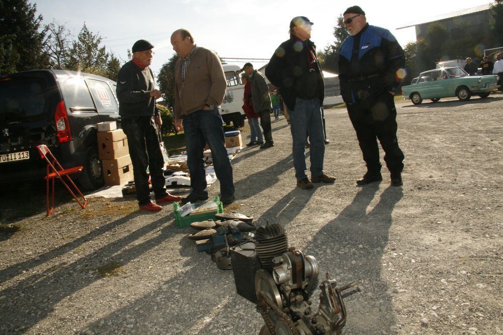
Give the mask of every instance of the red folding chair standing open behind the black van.
[{"label": "red folding chair standing open behind the black van", "polygon": [[[45,144],[37,145],[37,149],[40,152],[40,158],[45,159],[47,161],[47,173],[45,176],[45,180],[47,181],[47,189],[46,189],[46,196],[47,196],[47,216],[51,214],[52,210],[54,209],[54,180],[57,178],[63,183],[63,185],[66,187],[68,192],[73,196],[73,198],[78,202],[80,207],[86,208],[86,205],[88,204],[88,201],[86,200],[86,197],[83,196],[82,192],[78,189],[78,187],[73,183],[71,180],[70,176],[71,174],[77,173],[82,171],[83,167],[82,166],[75,166],[75,167],[70,167],[69,169],[63,169],[63,167],[59,164],[57,159],[54,157],[52,154],[51,150],[47,147]],[[68,179],[68,184],[73,186],[74,190],[76,193],[82,197],[83,203],[77,198],[75,195],[75,192],[73,192],[68,184],[63,180],[63,177],[66,177]],[[49,180],[52,179],[52,205],[51,208],[49,208]]]}]

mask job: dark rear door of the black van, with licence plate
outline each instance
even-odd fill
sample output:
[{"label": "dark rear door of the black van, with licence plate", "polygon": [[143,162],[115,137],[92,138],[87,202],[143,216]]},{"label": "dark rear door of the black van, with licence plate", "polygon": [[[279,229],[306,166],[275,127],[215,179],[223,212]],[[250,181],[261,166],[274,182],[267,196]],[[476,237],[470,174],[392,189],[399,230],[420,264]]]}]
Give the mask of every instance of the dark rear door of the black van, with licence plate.
[{"label": "dark rear door of the black van, with licence plate", "polygon": [[54,76],[48,71],[0,76],[0,181],[43,175],[43,171],[33,171],[37,170],[34,166],[41,170],[45,166],[36,146],[56,142],[51,118],[58,96]]}]

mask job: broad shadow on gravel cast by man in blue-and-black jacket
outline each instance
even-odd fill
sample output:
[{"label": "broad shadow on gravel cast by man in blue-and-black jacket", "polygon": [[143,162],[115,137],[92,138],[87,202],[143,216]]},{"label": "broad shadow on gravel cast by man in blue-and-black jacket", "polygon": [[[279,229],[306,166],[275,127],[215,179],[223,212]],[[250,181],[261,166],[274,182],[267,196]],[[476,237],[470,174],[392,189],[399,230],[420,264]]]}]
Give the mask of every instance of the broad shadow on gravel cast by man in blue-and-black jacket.
[{"label": "broad shadow on gravel cast by man in blue-and-black jacket", "polygon": [[[340,286],[363,281],[363,290],[345,300],[348,312],[345,333],[387,333],[395,325],[390,288],[381,279],[381,257],[388,243],[393,208],[403,194],[401,188],[388,187],[367,213],[378,190],[376,184],[362,188],[353,202],[321,228],[306,247],[306,254],[315,256],[332,278],[337,276]],[[324,273],[320,276],[324,278]]]}]

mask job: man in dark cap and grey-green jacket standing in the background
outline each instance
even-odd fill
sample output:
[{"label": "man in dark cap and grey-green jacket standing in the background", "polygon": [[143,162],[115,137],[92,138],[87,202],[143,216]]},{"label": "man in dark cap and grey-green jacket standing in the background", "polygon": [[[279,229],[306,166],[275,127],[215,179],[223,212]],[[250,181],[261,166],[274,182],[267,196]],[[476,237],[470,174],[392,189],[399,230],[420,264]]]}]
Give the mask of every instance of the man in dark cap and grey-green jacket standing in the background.
[{"label": "man in dark cap and grey-green jacket standing in the background", "polygon": [[250,78],[251,101],[253,109],[260,116],[260,125],[264,132],[266,142],[260,146],[261,149],[274,146],[273,132],[271,130],[271,97],[269,96],[269,87],[266,78],[261,72],[254,70],[251,63],[244,64],[241,71],[244,71]]}]

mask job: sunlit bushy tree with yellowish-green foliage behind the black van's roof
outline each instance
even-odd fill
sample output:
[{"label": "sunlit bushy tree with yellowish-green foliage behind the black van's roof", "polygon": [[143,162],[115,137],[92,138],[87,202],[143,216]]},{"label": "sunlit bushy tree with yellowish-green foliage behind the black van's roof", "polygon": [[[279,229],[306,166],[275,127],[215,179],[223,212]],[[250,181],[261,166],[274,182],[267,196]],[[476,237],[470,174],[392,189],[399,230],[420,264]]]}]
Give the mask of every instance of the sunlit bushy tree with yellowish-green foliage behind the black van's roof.
[{"label": "sunlit bushy tree with yellowish-green foliage behind the black van's roof", "polygon": [[84,23],[77,40],[72,43],[65,67],[74,71],[106,75],[109,55],[104,46],[100,47],[102,40],[99,34],[94,35]]}]

